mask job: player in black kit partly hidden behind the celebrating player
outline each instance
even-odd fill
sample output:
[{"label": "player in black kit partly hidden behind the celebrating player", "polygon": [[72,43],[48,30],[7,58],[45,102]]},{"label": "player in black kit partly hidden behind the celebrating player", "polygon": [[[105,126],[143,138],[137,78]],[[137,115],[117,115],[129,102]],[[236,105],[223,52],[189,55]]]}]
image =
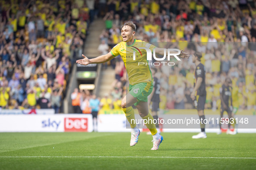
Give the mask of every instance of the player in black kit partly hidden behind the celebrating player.
[{"label": "player in black kit partly hidden behind the celebrating player", "polygon": [[[152,116],[155,120],[158,120],[157,112],[159,111],[159,103],[160,103],[160,79],[157,78],[156,72],[157,69],[155,67],[150,68],[152,72],[152,77],[154,79],[153,82],[153,90],[149,96],[149,102],[152,102]],[[156,123],[156,129],[159,131],[159,124]],[[151,134],[151,133],[149,133]]]}]

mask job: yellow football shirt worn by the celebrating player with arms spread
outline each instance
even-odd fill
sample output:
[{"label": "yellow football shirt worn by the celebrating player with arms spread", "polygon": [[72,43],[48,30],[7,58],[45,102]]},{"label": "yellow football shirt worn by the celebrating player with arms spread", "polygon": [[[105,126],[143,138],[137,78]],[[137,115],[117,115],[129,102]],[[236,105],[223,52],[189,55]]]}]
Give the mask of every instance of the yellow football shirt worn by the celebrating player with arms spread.
[{"label": "yellow football shirt worn by the celebrating player with arms spread", "polygon": [[[130,85],[152,81],[149,65],[146,65],[146,63],[148,63],[146,50],[138,49],[139,47],[148,47],[151,51],[156,48],[152,44],[135,39],[132,45],[126,45],[126,42],[122,41],[111,50],[111,54],[113,56],[118,56],[120,54],[122,57],[129,77]],[[133,51],[136,53],[135,60],[133,60]],[[145,64],[139,65],[139,62]]]}]

